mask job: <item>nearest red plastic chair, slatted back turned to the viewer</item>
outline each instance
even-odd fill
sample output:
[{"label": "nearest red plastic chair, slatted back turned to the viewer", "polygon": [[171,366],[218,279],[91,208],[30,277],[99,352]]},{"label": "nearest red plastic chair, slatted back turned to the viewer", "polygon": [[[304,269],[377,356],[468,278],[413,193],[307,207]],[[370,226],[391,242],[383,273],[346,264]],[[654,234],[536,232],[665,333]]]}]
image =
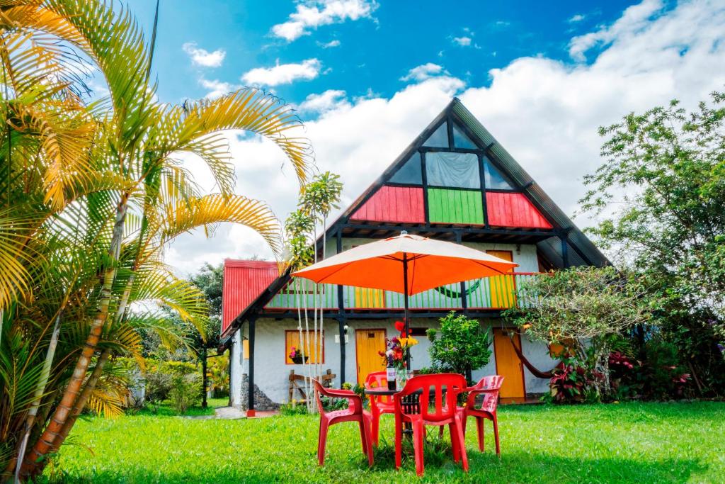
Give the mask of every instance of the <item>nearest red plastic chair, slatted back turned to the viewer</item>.
[{"label": "nearest red plastic chair, slatted back turned to the viewer", "polygon": [[[463,461],[463,469],[468,472],[468,456],[465,454],[463,424],[457,411],[456,397],[465,390],[463,375],[455,373],[426,374],[407,381],[402,392],[394,395],[395,403],[395,468],[400,467],[402,426],[410,422],[413,427],[413,448],[415,450],[415,472],[422,476],[423,443],[426,440],[426,425],[448,425],[453,448],[453,460]],[[444,398],[445,388],[445,398]],[[410,406],[404,405],[402,398],[420,393],[420,413],[411,413]],[[433,405],[430,405],[430,402]],[[406,407],[408,407],[406,409]]]}]

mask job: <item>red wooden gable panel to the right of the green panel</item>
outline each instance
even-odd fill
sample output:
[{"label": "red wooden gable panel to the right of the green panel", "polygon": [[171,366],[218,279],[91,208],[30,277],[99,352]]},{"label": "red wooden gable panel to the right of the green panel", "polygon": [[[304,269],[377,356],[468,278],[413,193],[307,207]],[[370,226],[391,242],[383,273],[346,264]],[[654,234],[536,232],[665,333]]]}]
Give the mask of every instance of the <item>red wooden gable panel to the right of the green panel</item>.
[{"label": "red wooden gable panel to the right of the green panel", "polygon": [[494,227],[552,228],[523,193],[486,192],[486,210]]}]

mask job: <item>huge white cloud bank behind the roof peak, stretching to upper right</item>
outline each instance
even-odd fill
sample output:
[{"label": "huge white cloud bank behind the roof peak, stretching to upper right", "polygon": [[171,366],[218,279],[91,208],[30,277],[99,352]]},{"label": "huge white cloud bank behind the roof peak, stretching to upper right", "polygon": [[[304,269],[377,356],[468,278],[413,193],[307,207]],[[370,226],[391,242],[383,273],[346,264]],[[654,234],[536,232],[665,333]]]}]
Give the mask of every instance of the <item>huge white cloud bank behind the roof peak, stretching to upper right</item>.
[{"label": "huge white cloud bank behind the roof peak, stretching to upper right", "polygon": [[[725,9],[720,3],[679,4],[648,25],[634,22],[618,29],[589,64],[523,57],[490,71],[485,86],[438,75],[392,97],[322,93],[308,98],[323,109],[300,133],[312,141],[320,170],[341,175],[345,208],[458,95],[571,214],[585,191],[582,177],[601,163],[598,126],[674,97],[696,107],[725,85]],[[297,181],[280,150],[257,136],[233,137],[230,144],[237,191],[269,202],[285,218],[297,202]],[[577,222],[590,223],[586,218]],[[220,227],[215,239],[207,241],[200,233],[175,242],[167,262],[183,274],[202,261],[255,253],[270,255],[260,237],[241,227]]]}]

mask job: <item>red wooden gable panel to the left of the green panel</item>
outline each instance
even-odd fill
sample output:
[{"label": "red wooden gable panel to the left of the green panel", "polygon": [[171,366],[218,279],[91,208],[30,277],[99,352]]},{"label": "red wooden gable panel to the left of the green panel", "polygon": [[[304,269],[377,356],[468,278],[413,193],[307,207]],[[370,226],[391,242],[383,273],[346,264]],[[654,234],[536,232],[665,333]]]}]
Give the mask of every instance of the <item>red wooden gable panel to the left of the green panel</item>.
[{"label": "red wooden gable panel to the left of the green panel", "polygon": [[381,186],[352,220],[400,223],[425,223],[423,189],[413,186]]}]

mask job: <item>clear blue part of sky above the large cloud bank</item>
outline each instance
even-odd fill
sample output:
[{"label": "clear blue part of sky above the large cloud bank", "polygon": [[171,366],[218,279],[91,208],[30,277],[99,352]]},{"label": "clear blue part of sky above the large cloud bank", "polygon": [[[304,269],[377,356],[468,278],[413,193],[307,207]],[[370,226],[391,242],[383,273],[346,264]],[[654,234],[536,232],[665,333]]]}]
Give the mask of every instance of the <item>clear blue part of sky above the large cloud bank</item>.
[{"label": "clear blue part of sky above the large cloud bank", "polygon": [[[269,86],[289,102],[326,89],[352,97],[389,97],[405,86],[410,69],[433,62],[473,85],[490,82],[489,70],[519,57],[568,60],[572,36],[622,15],[631,1],[379,1],[367,4],[358,20],[334,19],[311,25],[292,41],[273,33],[297,5],[274,1],[162,0],[154,70],[165,102],[204,97],[200,81],[248,84],[244,73],[257,67],[318,60],[315,78]],[[150,31],[152,0],[130,2]],[[311,2],[320,10],[322,3]],[[365,7],[362,7],[363,9]],[[219,67],[194,65],[187,43],[207,52],[223,51]],[[330,46],[330,44],[332,45]],[[339,43],[339,45],[337,45]]]}]

